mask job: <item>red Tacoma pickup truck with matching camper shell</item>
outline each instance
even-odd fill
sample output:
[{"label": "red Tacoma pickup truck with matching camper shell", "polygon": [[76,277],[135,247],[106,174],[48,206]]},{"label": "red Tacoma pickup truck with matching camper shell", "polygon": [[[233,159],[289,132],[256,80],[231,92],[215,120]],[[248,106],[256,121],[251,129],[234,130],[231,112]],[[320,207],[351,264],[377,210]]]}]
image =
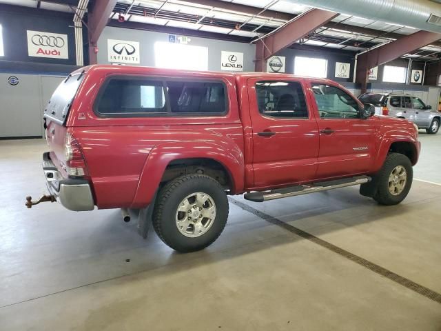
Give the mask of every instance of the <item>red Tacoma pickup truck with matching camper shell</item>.
[{"label": "red Tacoma pickup truck with matching camper shell", "polygon": [[227,194],[267,201],[361,184],[393,205],[411,188],[418,130],[373,111],[327,79],[85,67],[44,110],[50,195],[26,205],[141,210],[141,229],[152,222],[181,252],[220,235]]}]

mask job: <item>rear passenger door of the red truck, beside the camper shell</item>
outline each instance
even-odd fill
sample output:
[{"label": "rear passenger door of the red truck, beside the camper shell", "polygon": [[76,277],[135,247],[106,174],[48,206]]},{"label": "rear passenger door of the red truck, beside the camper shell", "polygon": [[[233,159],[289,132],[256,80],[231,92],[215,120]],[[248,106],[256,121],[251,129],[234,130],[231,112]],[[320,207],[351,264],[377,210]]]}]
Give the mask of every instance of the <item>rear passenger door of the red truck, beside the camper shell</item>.
[{"label": "rear passenger door of the red truck, beside the camper shell", "polygon": [[248,80],[254,188],[313,180],[318,128],[300,81]]}]

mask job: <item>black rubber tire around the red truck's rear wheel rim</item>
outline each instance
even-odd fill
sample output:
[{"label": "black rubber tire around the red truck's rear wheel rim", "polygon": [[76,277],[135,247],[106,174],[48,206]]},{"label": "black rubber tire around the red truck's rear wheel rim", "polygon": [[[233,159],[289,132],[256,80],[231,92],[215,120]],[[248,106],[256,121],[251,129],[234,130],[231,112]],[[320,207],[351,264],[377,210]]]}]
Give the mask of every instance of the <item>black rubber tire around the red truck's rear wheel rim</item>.
[{"label": "black rubber tire around the red truck's rear wheel rim", "polygon": [[[216,206],[216,216],[207,232],[200,237],[186,237],[178,230],[176,213],[183,199],[196,192],[203,192],[212,198]],[[153,214],[154,230],[166,245],[178,252],[202,250],[216,241],[222,233],[227,223],[228,207],[225,190],[212,177],[205,174],[178,177],[167,183],[158,193]],[[191,228],[194,225],[189,226]]]}]

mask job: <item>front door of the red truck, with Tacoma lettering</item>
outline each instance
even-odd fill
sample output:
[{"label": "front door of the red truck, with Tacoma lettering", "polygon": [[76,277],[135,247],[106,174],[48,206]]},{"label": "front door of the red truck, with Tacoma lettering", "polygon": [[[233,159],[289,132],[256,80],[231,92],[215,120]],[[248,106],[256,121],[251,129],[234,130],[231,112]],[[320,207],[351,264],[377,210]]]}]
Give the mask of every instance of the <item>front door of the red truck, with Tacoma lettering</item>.
[{"label": "front door of the red truck, with Tacoma lettering", "polygon": [[369,172],[376,155],[378,117],[362,119],[362,105],[338,86],[311,83],[310,91],[320,132],[317,178]]}]

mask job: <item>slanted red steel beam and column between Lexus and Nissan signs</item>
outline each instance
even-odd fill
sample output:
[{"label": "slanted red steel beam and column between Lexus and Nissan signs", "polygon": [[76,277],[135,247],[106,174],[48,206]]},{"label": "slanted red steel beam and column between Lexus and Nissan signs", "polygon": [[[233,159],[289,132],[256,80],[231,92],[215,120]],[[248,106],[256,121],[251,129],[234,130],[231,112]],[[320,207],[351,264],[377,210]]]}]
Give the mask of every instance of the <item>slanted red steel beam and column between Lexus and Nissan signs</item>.
[{"label": "slanted red steel beam and column between Lexus and Nissan signs", "polygon": [[325,23],[337,17],[338,13],[327,10],[312,9],[293,21],[285,24],[267,37],[256,41],[256,71],[265,71],[265,62],[280,50],[291,46],[294,42],[305,37],[309,32],[320,28]]}]

